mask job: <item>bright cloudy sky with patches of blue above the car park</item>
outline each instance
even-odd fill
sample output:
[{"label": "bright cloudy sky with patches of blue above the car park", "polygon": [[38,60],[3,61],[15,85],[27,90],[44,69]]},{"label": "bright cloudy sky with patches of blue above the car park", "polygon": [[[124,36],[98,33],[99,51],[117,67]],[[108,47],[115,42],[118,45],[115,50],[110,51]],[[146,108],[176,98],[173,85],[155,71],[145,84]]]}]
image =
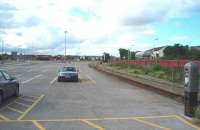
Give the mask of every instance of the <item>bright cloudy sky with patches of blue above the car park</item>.
[{"label": "bright cloudy sky with patches of blue above the car park", "polygon": [[200,45],[200,0],[1,0],[5,50],[118,56],[182,43]]}]

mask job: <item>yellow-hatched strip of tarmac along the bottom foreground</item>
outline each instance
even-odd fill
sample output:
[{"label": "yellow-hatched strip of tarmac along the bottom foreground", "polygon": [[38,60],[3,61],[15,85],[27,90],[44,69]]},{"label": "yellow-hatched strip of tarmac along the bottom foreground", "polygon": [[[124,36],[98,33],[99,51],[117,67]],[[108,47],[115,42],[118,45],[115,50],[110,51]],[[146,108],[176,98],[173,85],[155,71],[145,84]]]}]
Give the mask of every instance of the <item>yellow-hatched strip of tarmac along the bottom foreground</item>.
[{"label": "yellow-hatched strip of tarmac along the bottom foreground", "polygon": [[80,118],[46,120],[2,120],[4,130],[199,130],[200,128],[178,115]]}]

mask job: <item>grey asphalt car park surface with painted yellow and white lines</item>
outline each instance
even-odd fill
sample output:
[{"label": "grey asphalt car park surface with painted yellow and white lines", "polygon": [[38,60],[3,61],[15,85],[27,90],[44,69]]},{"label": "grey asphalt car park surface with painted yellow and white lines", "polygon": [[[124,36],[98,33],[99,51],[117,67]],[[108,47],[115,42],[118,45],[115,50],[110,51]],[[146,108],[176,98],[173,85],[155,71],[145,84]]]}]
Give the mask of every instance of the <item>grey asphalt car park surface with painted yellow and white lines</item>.
[{"label": "grey asphalt car park surface with painted yellow and white lines", "polygon": [[183,105],[88,67],[79,82],[57,82],[59,62],[1,65],[21,82],[21,96],[0,108],[0,130],[195,130]]}]

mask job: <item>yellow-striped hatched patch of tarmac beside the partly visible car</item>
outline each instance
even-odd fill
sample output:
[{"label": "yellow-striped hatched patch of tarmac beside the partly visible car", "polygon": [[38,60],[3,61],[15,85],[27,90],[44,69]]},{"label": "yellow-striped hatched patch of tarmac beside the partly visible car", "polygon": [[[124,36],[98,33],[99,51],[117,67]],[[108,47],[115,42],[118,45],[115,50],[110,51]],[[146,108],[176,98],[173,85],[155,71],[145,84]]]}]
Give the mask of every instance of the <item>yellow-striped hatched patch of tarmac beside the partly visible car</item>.
[{"label": "yellow-striped hatched patch of tarmac beside the partly visible car", "polygon": [[42,99],[40,96],[22,95],[0,109],[0,120],[21,120],[23,119]]}]

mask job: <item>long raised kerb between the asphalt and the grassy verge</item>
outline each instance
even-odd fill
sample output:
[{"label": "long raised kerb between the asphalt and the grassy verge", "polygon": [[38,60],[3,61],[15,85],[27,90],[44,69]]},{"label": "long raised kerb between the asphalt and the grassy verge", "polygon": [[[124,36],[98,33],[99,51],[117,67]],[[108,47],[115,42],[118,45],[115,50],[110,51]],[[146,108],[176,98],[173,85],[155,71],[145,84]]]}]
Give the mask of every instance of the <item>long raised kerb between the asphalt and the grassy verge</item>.
[{"label": "long raised kerb between the asphalt and the grassy verge", "polygon": [[117,78],[119,78],[123,81],[126,81],[130,84],[135,85],[136,87],[140,87],[140,88],[144,88],[144,89],[156,92],[160,95],[170,97],[172,99],[175,99],[176,101],[183,103],[183,99],[184,99],[183,92],[176,93],[176,91],[172,91],[171,88],[169,88],[170,86],[166,86],[166,85],[161,86],[160,84],[156,85],[157,83],[153,84],[153,83],[150,83],[149,81],[144,80],[144,79],[130,77],[130,76],[127,76],[123,73],[119,73],[119,72],[115,72],[113,70],[106,69],[106,68],[104,68],[104,67],[102,67],[98,64],[89,64],[89,67],[94,68],[94,69],[96,69],[100,72],[104,72],[108,75],[117,77]]}]

